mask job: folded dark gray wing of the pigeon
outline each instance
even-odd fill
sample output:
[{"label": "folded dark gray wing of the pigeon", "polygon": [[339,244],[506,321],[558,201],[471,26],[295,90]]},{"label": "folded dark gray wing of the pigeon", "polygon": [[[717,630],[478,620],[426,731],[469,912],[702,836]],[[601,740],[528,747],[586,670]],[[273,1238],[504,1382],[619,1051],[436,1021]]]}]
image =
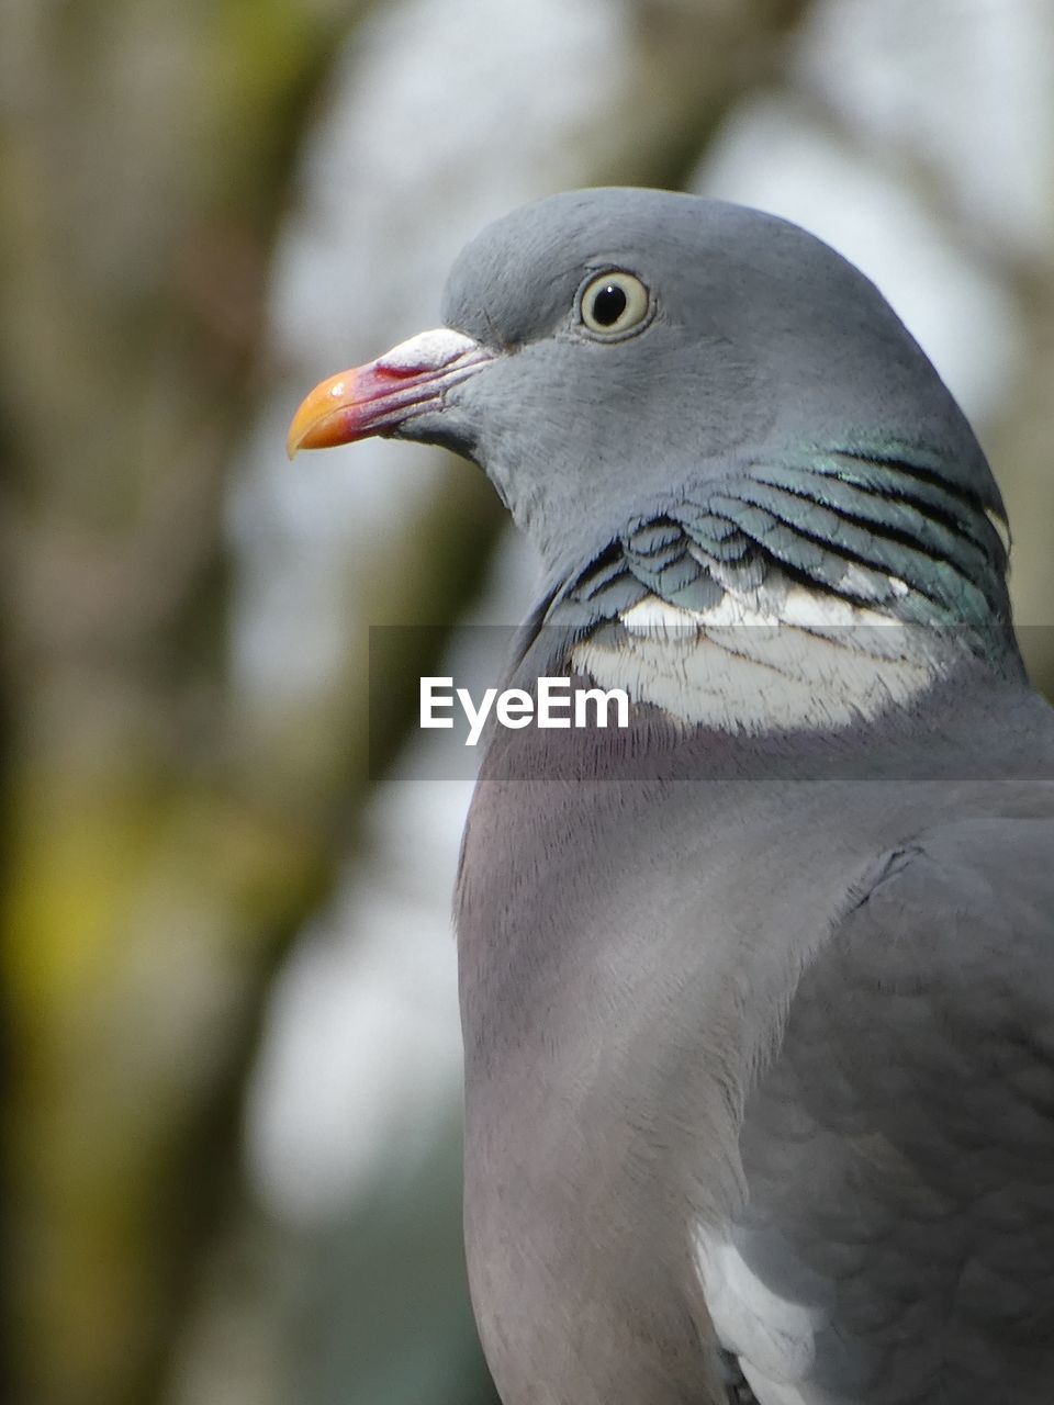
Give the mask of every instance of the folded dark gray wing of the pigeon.
[{"label": "folded dark gray wing of the pigeon", "polygon": [[770,1392],[743,1357],[762,1405],[1054,1399],[1054,819],[887,857],[802,974],[741,1151],[727,1252],[811,1332]]}]

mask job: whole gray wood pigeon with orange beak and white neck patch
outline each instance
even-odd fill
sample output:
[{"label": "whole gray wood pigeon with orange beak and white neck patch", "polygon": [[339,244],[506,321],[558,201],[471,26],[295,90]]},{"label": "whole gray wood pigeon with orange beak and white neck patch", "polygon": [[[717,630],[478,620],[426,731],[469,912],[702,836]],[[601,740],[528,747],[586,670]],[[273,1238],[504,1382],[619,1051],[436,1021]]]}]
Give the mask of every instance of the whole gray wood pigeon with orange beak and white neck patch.
[{"label": "whole gray wood pigeon with orange beak and white neck patch", "polygon": [[[445,445],[541,558],[457,884],[505,1405],[1054,1399],[1054,712],[999,490],[877,288],[565,192],[289,450]],[[609,710],[610,712],[610,710]],[[568,718],[571,721],[571,718]]]}]

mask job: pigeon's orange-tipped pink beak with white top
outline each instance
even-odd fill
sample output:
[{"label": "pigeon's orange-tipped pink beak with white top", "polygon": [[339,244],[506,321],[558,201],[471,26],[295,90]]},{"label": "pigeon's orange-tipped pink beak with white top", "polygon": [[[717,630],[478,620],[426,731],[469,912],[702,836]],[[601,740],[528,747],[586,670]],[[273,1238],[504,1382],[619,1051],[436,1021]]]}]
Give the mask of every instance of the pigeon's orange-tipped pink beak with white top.
[{"label": "pigeon's orange-tipped pink beak with white top", "polygon": [[332,448],[371,434],[395,434],[406,420],[437,410],[451,385],[493,360],[461,332],[437,327],[385,351],[377,361],[316,385],[289,424],[285,448]]}]

